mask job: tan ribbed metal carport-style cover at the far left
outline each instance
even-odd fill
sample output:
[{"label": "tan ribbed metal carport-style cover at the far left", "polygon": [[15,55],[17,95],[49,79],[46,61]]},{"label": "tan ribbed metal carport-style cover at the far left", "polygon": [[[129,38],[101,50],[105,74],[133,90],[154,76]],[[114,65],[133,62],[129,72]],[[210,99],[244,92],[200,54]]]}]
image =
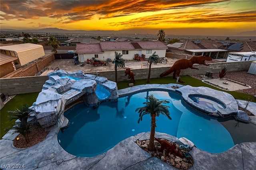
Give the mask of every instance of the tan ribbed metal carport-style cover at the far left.
[{"label": "tan ribbed metal carport-style cover at the far left", "polygon": [[38,44],[32,44],[32,43],[1,46],[0,53],[18,58],[14,60],[14,64],[16,65],[16,68],[17,67],[20,68],[23,65],[26,65],[32,61],[35,61],[36,59],[45,57],[43,46]]}]

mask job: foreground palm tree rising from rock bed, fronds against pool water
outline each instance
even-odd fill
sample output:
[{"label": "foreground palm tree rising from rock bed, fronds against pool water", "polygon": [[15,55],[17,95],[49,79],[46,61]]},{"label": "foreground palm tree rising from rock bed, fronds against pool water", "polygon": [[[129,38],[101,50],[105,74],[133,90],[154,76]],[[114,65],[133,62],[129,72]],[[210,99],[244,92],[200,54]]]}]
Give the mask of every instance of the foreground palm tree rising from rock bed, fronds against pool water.
[{"label": "foreground palm tree rising from rock bed, fronds against pool water", "polygon": [[150,114],[151,116],[151,130],[150,130],[150,139],[149,139],[149,150],[154,150],[154,137],[155,137],[155,128],[156,128],[156,116],[159,116],[160,113],[165,115],[168,119],[172,120],[170,117],[170,112],[168,107],[163,104],[170,103],[167,100],[160,101],[159,99],[155,98],[153,94],[148,96],[149,102],[144,102],[143,104],[146,104],[146,106],[138,107],[135,111],[138,111],[140,113],[138,123],[142,121],[142,117],[146,114]]}]

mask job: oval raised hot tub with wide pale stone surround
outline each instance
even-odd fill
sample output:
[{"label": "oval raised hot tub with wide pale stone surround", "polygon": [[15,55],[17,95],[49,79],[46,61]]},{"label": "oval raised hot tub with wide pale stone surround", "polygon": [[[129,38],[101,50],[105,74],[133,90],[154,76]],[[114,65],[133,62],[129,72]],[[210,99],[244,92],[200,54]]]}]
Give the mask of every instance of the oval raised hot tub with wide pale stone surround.
[{"label": "oval raised hot tub with wide pale stone surround", "polygon": [[208,87],[183,86],[176,89],[189,107],[213,117],[229,117],[238,111],[235,98],[226,92]]}]

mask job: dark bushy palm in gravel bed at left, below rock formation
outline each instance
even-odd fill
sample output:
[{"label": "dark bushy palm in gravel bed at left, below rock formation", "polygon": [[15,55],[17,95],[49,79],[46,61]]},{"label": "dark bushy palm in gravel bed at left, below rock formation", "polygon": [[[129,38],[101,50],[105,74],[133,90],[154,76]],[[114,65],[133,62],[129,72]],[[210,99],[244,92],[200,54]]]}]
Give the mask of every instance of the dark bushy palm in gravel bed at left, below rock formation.
[{"label": "dark bushy palm in gravel bed at left, below rock formation", "polygon": [[10,117],[10,120],[19,119],[20,124],[14,125],[13,127],[6,129],[6,131],[11,130],[10,131],[11,134],[14,134],[14,133],[22,134],[25,137],[27,143],[29,143],[28,132],[30,130],[30,124],[28,123],[28,117],[29,117],[30,111],[31,110],[28,108],[28,105],[26,105],[25,107],[22,107],[21,109],[8,111],[8,113],[10,113],[10,115],[8,115]]}]

